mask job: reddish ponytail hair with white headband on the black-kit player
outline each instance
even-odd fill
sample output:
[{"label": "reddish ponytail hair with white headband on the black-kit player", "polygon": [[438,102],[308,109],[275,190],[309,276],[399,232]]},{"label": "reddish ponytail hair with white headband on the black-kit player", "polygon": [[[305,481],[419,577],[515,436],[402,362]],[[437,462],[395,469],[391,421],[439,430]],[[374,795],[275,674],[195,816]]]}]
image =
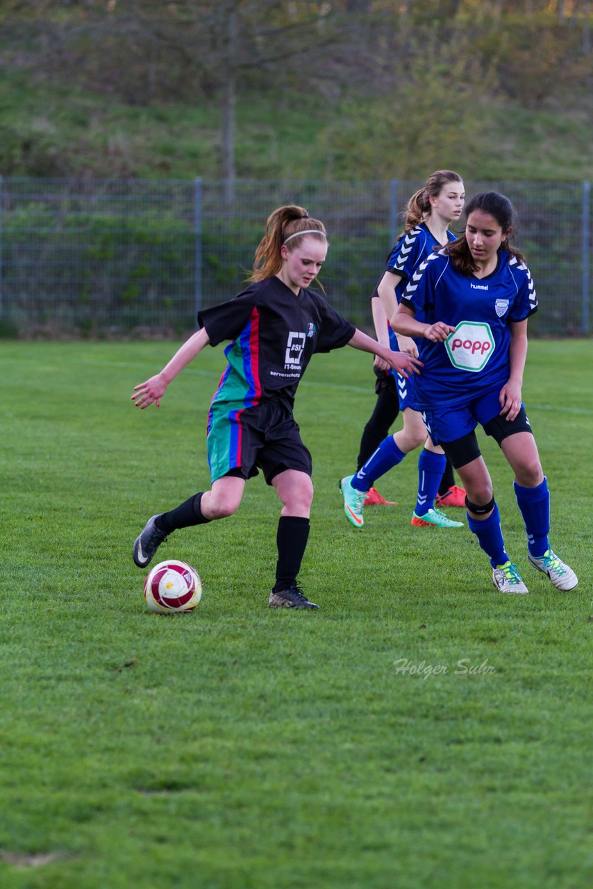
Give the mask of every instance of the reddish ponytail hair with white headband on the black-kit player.
[{"label": "reddish ponytail hair with white headband on the black-kit player", "polygon": [[264,278],[276,275],[276,272],[282,268],[280,248],[286,243],[287,238],[290,238],[289,243],[286,244],[288,250],[294,250],[295,247],[300,246],[302,238],[298,236],[299,232],[307,232],[313,237],[317,237],[318,232],[319,238],[327,240],[324,223],[311,219],[304,207],[287,204],[270,213],[266,221],[266,234],[261,238],[255,251],[253,270],[249,280],[263,281]]}]

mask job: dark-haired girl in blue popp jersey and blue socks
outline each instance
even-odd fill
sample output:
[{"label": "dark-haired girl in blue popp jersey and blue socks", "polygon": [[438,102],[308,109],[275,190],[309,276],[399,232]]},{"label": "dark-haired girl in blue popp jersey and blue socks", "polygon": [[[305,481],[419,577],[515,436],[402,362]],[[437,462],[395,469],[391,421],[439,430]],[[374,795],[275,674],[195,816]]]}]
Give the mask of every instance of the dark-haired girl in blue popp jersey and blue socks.
[{"label": "dark-haired girl in blue popp jersey and blue socks", "polygon": [[465,485],[469,528],[490,557],[496,588],[527,592],[504,546],[477,445],[478,423],[515,473],[529,562],[557,589],[573,589],[576,574],[549,546],[548,483],[521,401],[527,318],[537,310],[537,297],[525,258],[509,244],[513,206],[488,191],[473,197],[466,213],[465,234],[413,275],[392,324],[422,338],[416,402],[433,442],[443,446]]}]

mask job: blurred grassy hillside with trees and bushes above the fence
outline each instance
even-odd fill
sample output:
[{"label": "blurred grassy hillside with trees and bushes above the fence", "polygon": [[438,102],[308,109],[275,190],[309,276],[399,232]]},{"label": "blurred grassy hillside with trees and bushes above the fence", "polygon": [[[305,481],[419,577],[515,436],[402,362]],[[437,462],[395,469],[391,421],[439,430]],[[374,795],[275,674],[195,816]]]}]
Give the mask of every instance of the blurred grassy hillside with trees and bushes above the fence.
[{"label": "blurred grassy hillside with trees and bushes above the fence", "polygon": [[589,178],[587,4],[407,5],[7,3],[0,174]]}]

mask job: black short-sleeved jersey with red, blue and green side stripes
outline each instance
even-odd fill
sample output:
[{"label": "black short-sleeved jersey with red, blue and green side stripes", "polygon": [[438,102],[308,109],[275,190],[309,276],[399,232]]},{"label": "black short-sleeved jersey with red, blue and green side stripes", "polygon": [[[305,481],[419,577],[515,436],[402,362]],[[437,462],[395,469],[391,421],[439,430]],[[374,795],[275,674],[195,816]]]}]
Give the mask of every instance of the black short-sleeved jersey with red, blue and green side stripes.
[{"label": "black short-sleeved jersey with red, blue and green side stripes", "polygon": [[212,346],[232,340],[212,402],[244,407],[268,398],[292,406],[311,356],[345,346],[356,332],[319,293],[301,288],[295,294],[276,276],[204,308],[197,320]]}]

